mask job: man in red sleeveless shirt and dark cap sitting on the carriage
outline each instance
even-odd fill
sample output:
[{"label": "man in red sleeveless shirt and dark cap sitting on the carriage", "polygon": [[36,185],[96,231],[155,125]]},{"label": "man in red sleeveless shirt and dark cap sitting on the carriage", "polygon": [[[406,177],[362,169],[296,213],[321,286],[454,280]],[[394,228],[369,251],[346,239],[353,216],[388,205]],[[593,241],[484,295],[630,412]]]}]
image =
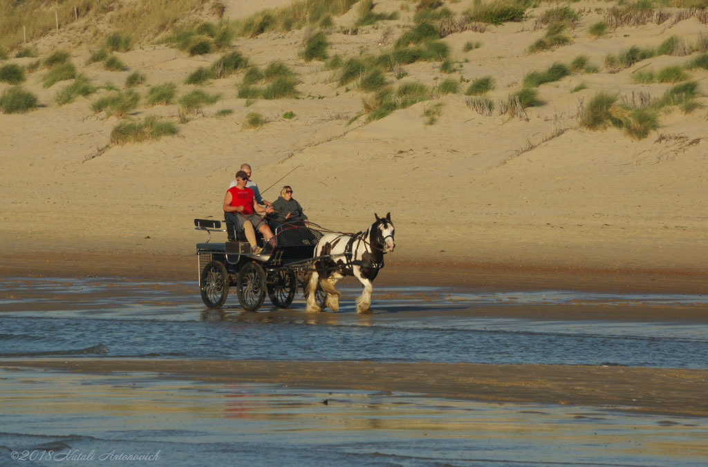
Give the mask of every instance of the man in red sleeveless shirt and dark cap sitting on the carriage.
[{"label": "man in red sleeveless shirt and dark cap sitting on the carriage", "polygon": [[270,214],[273,212],[273,208],[270,206],[261,207],[255,202],[253,190],[246,188],[248,180],[249,175],[246,172],[236,172],[236,186],[229,188],[226,192],[226,197],[224,197],[224,212],[227,213],[227,216],[231,214],[234,217],[237,228],[244,231],[246,240],[251,244],[251,251],[257,255],[261,253],[261,248],[258,248],[256,243],[254,227],[263,233],[265,241],[270,240],[273,232],[270,231],[270,227],[265,223],[263,217],[256,214],[256,212]]}]

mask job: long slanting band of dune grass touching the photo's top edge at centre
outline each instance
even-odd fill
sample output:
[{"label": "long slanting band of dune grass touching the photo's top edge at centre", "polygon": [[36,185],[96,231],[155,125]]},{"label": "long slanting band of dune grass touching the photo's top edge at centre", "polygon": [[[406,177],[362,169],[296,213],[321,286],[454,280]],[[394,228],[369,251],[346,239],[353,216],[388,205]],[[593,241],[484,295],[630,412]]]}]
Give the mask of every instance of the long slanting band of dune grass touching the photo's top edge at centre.
[{"label": "long slanting band of dune grass touching the photo's top edge at centre", "polygon": [[286,33],[306,25],[318,25],[341,16],[358,0],[299,0],[280,8],[258,11],[234,22],[236,34],[255,38],[263,33]]}]

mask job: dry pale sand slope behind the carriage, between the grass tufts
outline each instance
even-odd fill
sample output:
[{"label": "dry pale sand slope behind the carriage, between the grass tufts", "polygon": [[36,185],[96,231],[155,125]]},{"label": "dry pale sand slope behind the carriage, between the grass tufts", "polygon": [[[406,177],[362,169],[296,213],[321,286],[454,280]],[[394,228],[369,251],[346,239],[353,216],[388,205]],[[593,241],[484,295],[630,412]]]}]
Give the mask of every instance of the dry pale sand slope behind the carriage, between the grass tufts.
[{"label": "dry pale sand slope behind the carriage, between the grass tufts", "polygon": [[[225,15],[234,19],[252,13],[256,2],[225,4]],[[408,11],[401,10],[406,6]],[[461,12],[470,3],[446,6]],[[493,99],[518,90],[528,72],[568,63],[578,54],[600,67],[597,74],[573,74],[540,86],[545,103],[528,108],[527,121],[479,115],[465,104],[462,91],[467,83],[462,83],[459,93],[397,110],[382,120],[366,123],[360,117],[348,125],[362,111],[366,94],[355,83],[338,86],[336,72],[326,70],[322,62],[298,59],[306,31],[294,30],[237,38],[234,46],[261,66],[282,59],[299,74],[302,98],[258,100],[247,107],[245,99],[236,98],[235,85],[243,73],[236,74],[205,85],[210,93],[222,93],[222,99],[178,125],[176,137],[98,151],[108,144],[118,122],[91,110],[93,100],[108,91],[59,106],[53,96],[64,83],[43,89],[41,73],[30,74],[25,88],[46,106],[24,115],[0,114],[4,253],[88,248],[93,253],[186,257],[194,243],[202,241],[190,227],[192,219],[219,217],[224,190],[239,164],[249,162],[261,189],[275,183],[266,199],[275,199],[281,185],[292,185],[309,217],[332,229],[365,229],[375,212],[391,212],[397,248],[389,261],[430,258],[706,272],[706,108],[690,115],[679,110],[663,114],[658,132],[635,141],[619,129],[593,132],[579,127],[578,100],[587,102],[600,90],[630,97],[639,91],[661,95],[670,85],[634,84],[633,71],[646,64],[654,70],[683,64],[690,57],[662,55],[610,73],[602,66],[605,54],[632,45],[656,46],[670,35],[695,40],[708,33],[708,26],[689,18],[619,28],[593,39],[588,27],[602,19],[596,8],[609,5],[580,2],[572,4],[585,13],[569,32],[571,45],[529,54],[527,47],[544,34],[534,30],[535,18],[551,6],[531,8],[523,23],[443,39],[452,59],[460,62],[460,71],[449,76],[493,76]],[[399,19],[365,26],[358,35],[340,33],[339,26],[355,21],[355,10],[334,18],[330,54],[391,47],[401,28],[411,25],[415,4],[377,2],[375,11],[399,11]],[[481,47],[463,52],[468,41],[481,42]],[[40,51],[46,54],[52,43],[65,42],[62,32],[55,33],[41,41]],[[147,75],[147,86],[182,83],[197,67],[219,57],[189,57],[166,45],[143,45],[118,54],[129,70],[115,72],[99,64],[84,65],[90,48],[86,44],[72,50],[74,62],[93,81],[110,81],[120,88],[135,70]],[[437,87],[448,77],[439,67],[439,62],[406,65],[408,75],[402,81]],[[708,92],[708,71],[693,70],[690,76]],[[581,82],[587,88],[571,93]],[[147,86],[138,91],[146,93]],[[0,83],[0,92],[8,87]],[[180,84],[180,95],[193,87]],[[707,98],[699,101],[708,103]],[[442,104],[440,117],[426,125],[423,111],[437,102]],[[217,118],[220,109],[234,113]],[[296,117],[283,118],[287,111]],[[268,122],[260,129],[244,129],[249,112],[261,113]],[[135,116],[176,121],[177,113],[176,105],[141,106]],[[659,134],[670,139],[657,141]]]}]

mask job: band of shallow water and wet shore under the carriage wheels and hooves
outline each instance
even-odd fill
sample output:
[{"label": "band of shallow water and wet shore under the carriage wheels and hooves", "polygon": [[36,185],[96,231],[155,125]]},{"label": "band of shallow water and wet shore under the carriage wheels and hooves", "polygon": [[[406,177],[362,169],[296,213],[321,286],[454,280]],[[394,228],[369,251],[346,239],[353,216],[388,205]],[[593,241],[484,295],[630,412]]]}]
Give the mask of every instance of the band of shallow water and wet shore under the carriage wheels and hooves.
[{"label": "band of shallow water and wet shore under the carriage wheels and hooves", "polygon": [[[360,316],[343,287],[338,313],[245,313],[230,297],[208,310],[191,283],[125,279],[3,279],[0,357],[86,355],[208,359],[372,359],[493,364],[621,364],[704,368],[708,324],[672,321],[705,309],[708,296],[573,291],[460,292],[436,287],[375,290],[375,314]],[[666,318],[622,322],[479,316],[479,309],[632,307]],[[661,313],[659,313],[661,315]]]}]

